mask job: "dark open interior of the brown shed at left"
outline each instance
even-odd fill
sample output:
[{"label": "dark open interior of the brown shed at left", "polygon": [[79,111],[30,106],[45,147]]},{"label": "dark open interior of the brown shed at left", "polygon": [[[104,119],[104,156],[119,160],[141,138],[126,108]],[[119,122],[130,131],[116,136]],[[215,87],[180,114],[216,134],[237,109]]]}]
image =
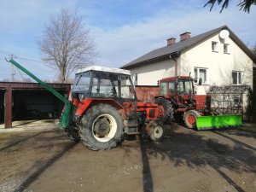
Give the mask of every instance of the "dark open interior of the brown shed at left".
[{"label": "dark open interior of the brown shed at left", "polygon": [[64,103],[47,90],[13,90],[13,98],[13,120],[56,119],[64,107]]}]

